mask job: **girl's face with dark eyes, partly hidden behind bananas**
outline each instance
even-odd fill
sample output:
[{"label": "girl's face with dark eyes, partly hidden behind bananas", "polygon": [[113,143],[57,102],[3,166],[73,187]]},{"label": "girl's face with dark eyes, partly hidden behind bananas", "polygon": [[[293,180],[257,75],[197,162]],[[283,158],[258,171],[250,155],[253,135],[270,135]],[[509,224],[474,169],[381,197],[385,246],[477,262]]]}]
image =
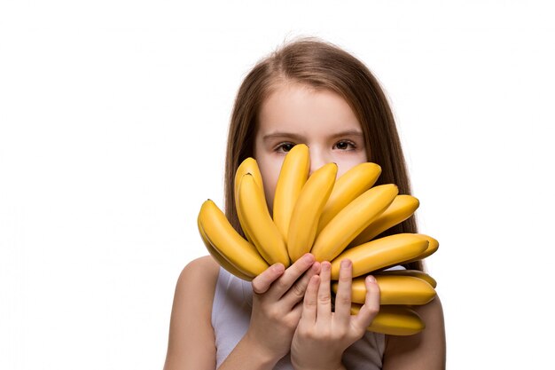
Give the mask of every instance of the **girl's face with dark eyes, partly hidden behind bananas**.
[{"label": "girl's face with dark eyes, partly hidden behind bananas", "polygon": [[281,84],[262,103],[254,137],[254,159],[270,209],[281,164],[296,144],[309,146],[310,173],[335,162],[340,177],[368,161],[360,122],[344,98],[298,83]]}]

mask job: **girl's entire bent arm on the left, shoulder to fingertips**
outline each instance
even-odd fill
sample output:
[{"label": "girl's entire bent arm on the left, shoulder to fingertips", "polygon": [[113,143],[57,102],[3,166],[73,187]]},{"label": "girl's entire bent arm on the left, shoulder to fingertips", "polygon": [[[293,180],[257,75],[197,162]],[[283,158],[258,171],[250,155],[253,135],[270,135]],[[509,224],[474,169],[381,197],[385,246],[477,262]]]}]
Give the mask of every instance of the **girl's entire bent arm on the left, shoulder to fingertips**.
[{"label": "girl's entire bent arm on the left, shoulder to fingertips", "polygon": [[[270,266],[253,279],[253,313],[246,335],[219,370],[270,370],[291,346],[301,317],[301,302],[309,279],[317,274],[314,256],[288,269]],[[219,272],[210,256],[188,264],[177,281],[168,355],[164,370],[214,370],[215,336],[212,302]]]}]

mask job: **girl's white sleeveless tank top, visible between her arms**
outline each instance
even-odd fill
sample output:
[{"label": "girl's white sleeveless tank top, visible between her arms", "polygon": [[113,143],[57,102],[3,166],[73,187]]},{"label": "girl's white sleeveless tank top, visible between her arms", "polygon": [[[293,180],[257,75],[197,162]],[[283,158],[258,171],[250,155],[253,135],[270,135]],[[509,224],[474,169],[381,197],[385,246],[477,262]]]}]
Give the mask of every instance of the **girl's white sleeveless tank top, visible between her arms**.
[{"label": "girl's white sleeveless tank top, visible between her arms", "polygon": [[[212,304],[212,327],[216,347],[216,368],[222,365],[248,328],[253,291],[251,283],[231,275],[220,267]],[[348,370],[379,370],[385,350],[385,335],[366,334],[343,354]],[[289,355],[281,358],[275,370],[293,370]]]}]

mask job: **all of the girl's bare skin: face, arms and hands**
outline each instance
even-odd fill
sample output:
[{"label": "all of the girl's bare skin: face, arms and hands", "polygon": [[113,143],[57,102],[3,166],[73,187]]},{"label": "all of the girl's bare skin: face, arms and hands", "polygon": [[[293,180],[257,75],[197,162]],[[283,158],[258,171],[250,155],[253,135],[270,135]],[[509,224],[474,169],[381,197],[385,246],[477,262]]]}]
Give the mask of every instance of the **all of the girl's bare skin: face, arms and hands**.
[{"label": "all of the girl's bare skin: face, arms and hands", "polygon": [[[254,138],[269,205],[285,154],[296,144],[310,151],[310,172],[333,161],[338,177],[368,161],[360,123],[348,103],[332,91],[284,83],[264,101]],[[210,313],[218,265],[201,257],[184,268],[177,281],[164,369],[215,369],[215,337]],[[291,352],[296,370],[344,369],[341,357],[379,311],[379,287],[365,280],[366,301],[351,315],[352,264],[340,268],[340,284],[332,311],[330,264],[305,255],[285,269],[270,266],[253,279],[253,311],[246,335],[219,367],[272,369]],[[191,299],[194,297],[194,299]],[[420,335],[387,337],[384,369],[442,369],[445,337],[442,307],[436,298],[417,307],[426,322]]]}]

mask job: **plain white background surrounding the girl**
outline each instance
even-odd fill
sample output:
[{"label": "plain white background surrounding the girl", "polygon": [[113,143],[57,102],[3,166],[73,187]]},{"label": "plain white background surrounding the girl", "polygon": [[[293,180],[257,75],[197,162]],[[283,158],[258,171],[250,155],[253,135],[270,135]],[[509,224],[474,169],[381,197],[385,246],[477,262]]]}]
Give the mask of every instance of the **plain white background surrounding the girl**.
[{"label": "plain white background surrounding the girl", "polygon": [[177,276],[206,255],[199,206],[222,205],[238,84],[300,35],[387,91],[420,230],[441,242],[448,368],[546,368],[547,3],[2,1],[0,368],[163,366]]}]

